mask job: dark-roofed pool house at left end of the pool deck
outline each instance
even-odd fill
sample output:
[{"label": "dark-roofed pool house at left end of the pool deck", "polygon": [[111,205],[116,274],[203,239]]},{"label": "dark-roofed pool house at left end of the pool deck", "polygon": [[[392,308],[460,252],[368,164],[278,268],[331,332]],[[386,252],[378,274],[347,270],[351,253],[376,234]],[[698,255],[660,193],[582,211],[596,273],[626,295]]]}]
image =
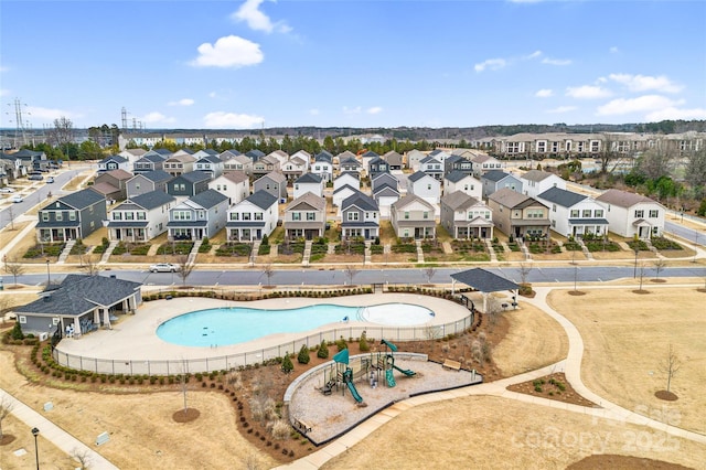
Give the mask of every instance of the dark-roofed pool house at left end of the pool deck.
[{"label": "dark-roofed pool house at left end of the pool deck", "polygon": [[135,313],[142,303],[141,286],[115,276],[69,274],[61,285],[47,287],[40,299],[12,311],[25,334],[76,338],[111,328],[119,314]]}]

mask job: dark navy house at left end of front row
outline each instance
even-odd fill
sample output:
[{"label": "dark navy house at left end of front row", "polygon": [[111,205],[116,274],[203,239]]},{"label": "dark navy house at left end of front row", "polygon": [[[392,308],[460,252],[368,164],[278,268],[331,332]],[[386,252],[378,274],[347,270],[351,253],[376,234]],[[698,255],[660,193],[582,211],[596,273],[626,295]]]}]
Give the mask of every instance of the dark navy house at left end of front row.
[{"label": "dark navy house at left end of front row", "polygon": [[85,238],[108,220],[106,200],[85,189],[67,194],[39,211],[36,238],[40,243]]}]

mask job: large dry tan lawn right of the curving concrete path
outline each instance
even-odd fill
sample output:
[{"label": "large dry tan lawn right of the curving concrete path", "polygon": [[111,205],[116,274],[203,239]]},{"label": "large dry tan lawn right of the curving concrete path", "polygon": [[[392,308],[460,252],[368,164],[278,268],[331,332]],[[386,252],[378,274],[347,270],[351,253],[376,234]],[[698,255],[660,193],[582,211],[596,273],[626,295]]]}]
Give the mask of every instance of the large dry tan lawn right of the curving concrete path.
[{"label": "large dry tan lawn right of the curving concrete path", "polygon": [[[553,291],[549,303],[579,330],[585,343],[582,380],[598,395],[641,414],[670,410],[676,426],[706,431],[706,293],[694,288],[662,288],[645,282],[650,293],[632,289],[588,290],[573,297]],[[660,371],[673,344],[682,368],[672,380],[680,399],[660,400],[666,388]],[[664,417],[662,413],[653,416]],[[664,420],[664,419],[662,419]]]}]

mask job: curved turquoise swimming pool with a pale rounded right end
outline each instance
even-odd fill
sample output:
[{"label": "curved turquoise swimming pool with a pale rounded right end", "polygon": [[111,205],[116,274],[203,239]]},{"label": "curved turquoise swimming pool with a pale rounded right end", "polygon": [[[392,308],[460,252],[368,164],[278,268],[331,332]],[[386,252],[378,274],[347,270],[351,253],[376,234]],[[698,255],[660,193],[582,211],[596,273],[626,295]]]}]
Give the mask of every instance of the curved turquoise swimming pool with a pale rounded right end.
[{"label": "curved turquoise swimming pool with a pale rounded right end", "polygon": [[157,328],[157,335],[168,343],[210,348],[243,343],[276,333],[300,333],[343,321],[414,327],[432,318],[431,310],[410,303],[370,307],[323,303],[281,310],[233,307],[199,310],[174,317]]}]

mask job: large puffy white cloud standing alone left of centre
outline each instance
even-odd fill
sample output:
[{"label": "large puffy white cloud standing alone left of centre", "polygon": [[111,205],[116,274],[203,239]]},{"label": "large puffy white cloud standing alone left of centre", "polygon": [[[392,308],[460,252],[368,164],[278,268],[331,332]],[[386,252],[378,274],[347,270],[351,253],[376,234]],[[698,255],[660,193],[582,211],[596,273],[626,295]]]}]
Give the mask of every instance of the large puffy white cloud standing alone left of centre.
[{"label": "large puffy white cloud standing alone left of centre", "polygon": [[195,67],[244,67],[263,62],[260,45],[246,39],[229,35],[220,38],[215,44],[203,43],[199,56],[190,64]]}]

